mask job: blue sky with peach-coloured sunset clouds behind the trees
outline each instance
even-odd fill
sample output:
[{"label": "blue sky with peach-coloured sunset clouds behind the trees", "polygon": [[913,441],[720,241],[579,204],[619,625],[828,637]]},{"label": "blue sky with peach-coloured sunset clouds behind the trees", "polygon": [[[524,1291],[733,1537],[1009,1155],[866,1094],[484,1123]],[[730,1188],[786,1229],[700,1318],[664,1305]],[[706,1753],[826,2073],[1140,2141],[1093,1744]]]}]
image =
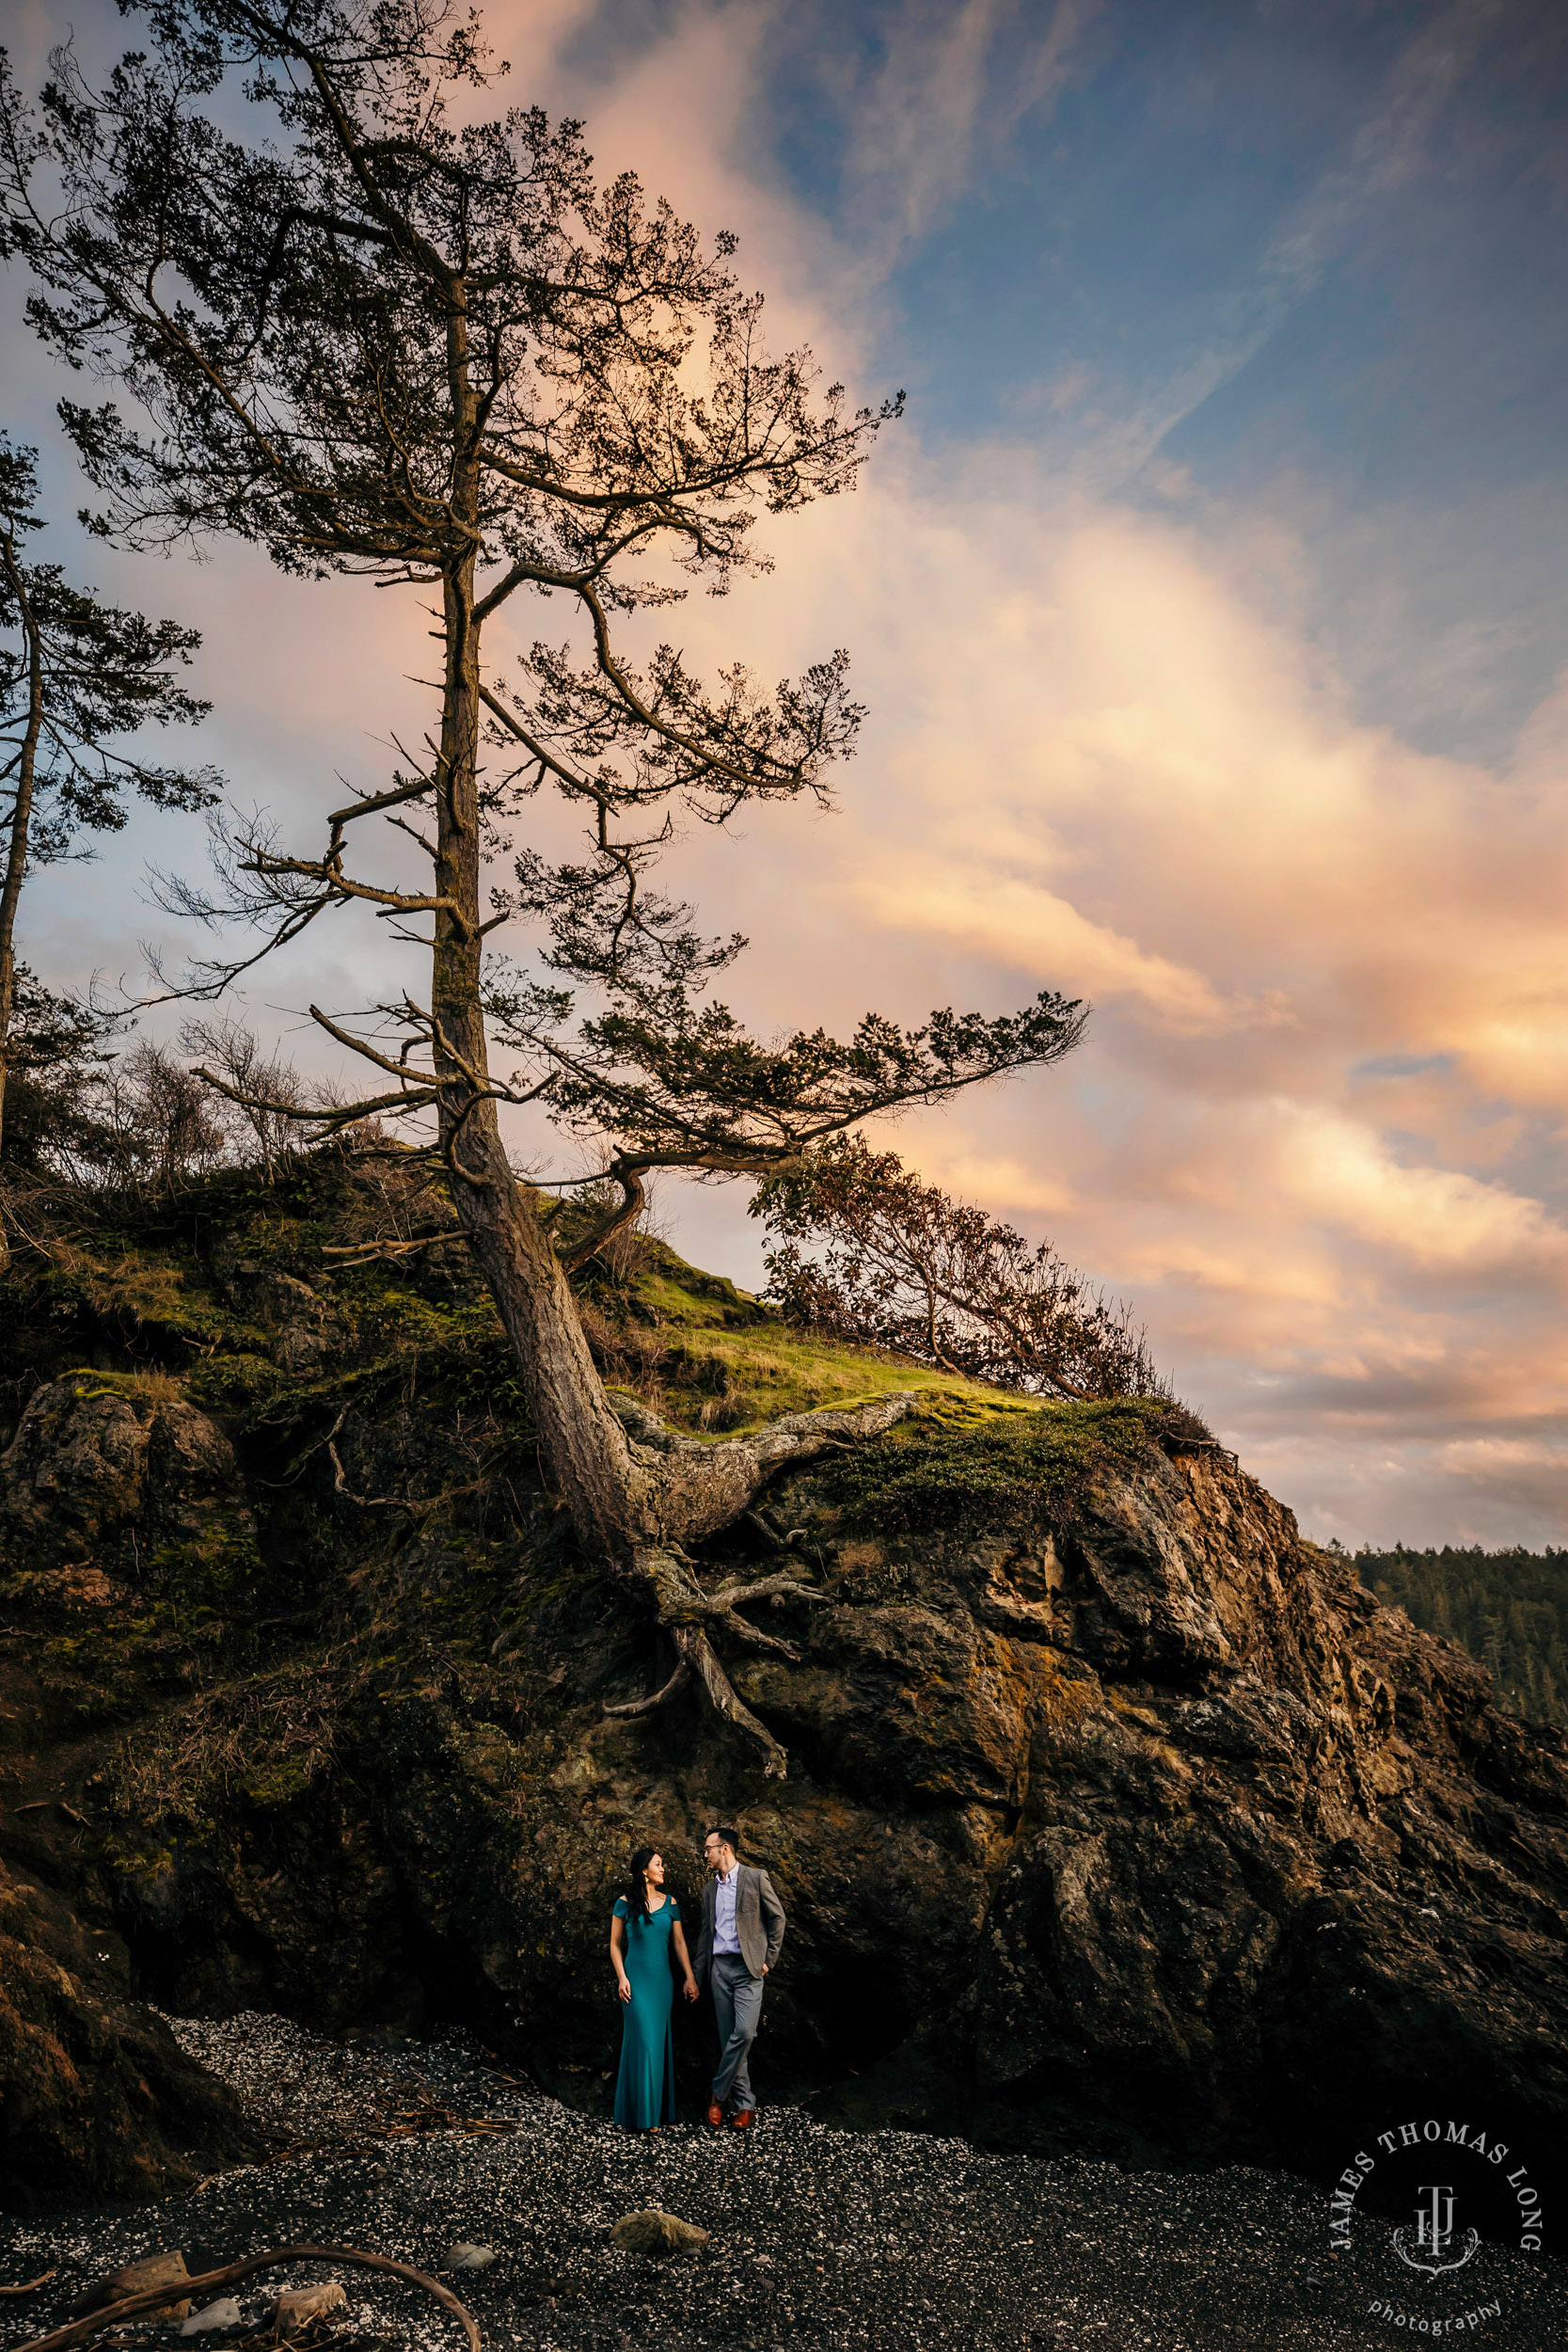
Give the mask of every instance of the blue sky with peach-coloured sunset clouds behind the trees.
[{"label": "blue sky with peach-coloured sunset clouds behind the trees", "polygon": [[[870,706],[832,816],[679,844],[759,1028],[1093,1004],[898,1150],[1133,1301],[1319,1541],[1568,1541],[1568,12],[1523,0],[496,0],[508,101],[741,238],[778,343],[907,390],[860,492],[679,616]],[[38,80],[73,24],[21,0]],[[7,287],[5,414],[80,501]],[[40,553],[45,553],[40,548]],[[423,724],[421,619],[261,557],[49,550],[205,633],[202,753],[284,823]],[[531,635],[520,614],[512,644]],[[665,623],[668,626],[668,623]],[[512,652],[501,635],[494,659]],[[28,960],[141,985],[146,818]],[[393,974],[350,917],[249,1016]],[[759,1279],[745,1195],[665,1230]]]}]

